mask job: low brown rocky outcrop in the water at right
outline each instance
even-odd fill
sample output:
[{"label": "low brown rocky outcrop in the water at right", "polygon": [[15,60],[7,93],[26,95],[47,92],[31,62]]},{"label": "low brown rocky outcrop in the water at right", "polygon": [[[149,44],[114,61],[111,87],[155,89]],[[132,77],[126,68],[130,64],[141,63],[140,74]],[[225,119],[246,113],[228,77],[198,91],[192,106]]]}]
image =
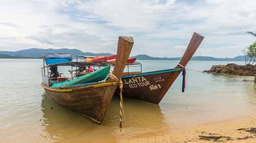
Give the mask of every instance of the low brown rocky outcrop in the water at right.
[{"label": "low brown rocky outcrop in the water at right", "polygon": [[210,70],[204,72],[233,74],[238,76],[256,76],[256,66],[237,64],[213,65]]}]

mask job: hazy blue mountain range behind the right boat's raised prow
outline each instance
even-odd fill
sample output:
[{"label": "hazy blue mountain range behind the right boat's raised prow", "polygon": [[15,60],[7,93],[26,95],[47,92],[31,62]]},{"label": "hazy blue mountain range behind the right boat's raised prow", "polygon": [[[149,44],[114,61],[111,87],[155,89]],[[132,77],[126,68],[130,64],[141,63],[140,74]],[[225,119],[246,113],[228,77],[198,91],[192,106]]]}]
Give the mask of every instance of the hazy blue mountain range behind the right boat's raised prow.
[{"label": "hazy blue mountain range behind the right boat's raised prow", "polygon": [[[141,60],[180,60],[181,57],[176,58],[160,58],[160,57],[151,57],[148,55],[137,55],[133,56],[137,59]],[[244,61],[244,56],[237,56],[235,58],[215,58],[215,57],[207,57],[207,56],[195,56],[192,57],[191,60],[203,60],[203,61]]]}]

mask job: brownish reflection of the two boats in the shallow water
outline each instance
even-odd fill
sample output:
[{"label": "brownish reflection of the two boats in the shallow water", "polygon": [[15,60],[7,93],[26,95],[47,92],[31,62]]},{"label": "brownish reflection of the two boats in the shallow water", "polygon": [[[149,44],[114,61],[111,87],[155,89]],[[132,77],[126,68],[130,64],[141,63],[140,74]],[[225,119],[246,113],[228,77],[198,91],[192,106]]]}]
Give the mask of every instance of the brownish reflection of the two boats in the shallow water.
[{"label": "brownish reflection of the two boats in the shallow water", "polygon": [[55,103],[42,95],[42,127],[47,142],[101,142],[149,137],[164,133],[169,127],[159,105],[135,99],[124,100],[124,128],[119,132],[119,98],[114,97],[105,115],[105,122],[97,125],[79,113]]}]

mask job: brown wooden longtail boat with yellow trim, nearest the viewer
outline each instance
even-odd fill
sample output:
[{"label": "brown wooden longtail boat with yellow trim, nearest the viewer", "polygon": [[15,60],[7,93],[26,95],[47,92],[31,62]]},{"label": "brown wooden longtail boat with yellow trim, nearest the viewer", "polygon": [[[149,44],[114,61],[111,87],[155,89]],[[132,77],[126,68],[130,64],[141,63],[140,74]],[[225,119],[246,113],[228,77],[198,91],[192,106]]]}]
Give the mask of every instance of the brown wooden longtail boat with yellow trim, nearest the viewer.
[{"label": "brown wooden longtail boat with yellow trim, nearest the viewer", "polygon": [[[132,37],[119,37],[116,56],[118,60],[115,62],[116,66],[113,71],[113,74],[118,79],[121,78],[132,46]],[[78,65],[80,63],[83,62],[70,62],[70,65],[73,67],[73,64]],[[41,86],[44,88],[46,94],[60,105],[88,117],[95,123],[101,124],[118,82],[110,78],[107,81],[96,83],[51,87],[49,82],[49,67],[51,67],[51,65],[43,66],[42,68],[43,82]],[[47,73],[45,73],[45,71],[47,71]]]}]

